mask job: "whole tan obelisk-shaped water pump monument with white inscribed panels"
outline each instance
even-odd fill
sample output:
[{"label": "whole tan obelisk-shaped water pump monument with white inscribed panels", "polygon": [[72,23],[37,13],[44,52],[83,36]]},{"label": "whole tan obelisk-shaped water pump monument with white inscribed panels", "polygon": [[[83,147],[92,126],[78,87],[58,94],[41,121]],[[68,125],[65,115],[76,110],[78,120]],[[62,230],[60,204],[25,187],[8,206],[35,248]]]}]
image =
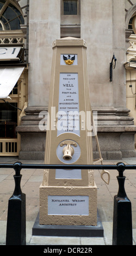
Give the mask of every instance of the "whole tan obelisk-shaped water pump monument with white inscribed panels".
[{"label": "whole tan obelisk-shaped water pump monument with white inscribed panels", "polygon": [[[100,159],[93,159],[95,136]],[[89,99],[86,42],[53,42],[45,164],[95,164],[102,156]],[[103,170],[103,174],[108,174]],[[45,169],[40,186],[40,225],[97,225],[94,170]]]}]

